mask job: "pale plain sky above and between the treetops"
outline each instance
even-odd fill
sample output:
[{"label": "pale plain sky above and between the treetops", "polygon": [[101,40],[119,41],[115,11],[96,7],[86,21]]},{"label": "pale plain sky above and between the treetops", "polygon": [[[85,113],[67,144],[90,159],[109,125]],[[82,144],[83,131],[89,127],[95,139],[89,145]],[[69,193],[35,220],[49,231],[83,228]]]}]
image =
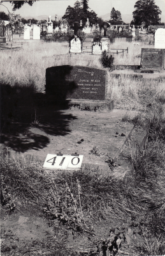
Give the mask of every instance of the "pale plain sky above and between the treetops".
[{"label": "pale plain sky above and between the treetops", "polygon": [[[134,4],[137,0],[89,0],[89,8],[94,10],[98,16],[111,12],[111,8],[115,8],[121,12],[122,15],[132,14],[134,11]],[[35,2],[32,6],[24,4],[15,13],[19,13],[21,17],[39,15],[51,15],[54,19],[55,14],[64,15],[68,5],[74,6],[76,0],[40,0]],[[11,4],[8,1],[3,1],[3,4],[8,7],[9,11],[12,10]],[[165,22],[165,0],[155,0],[155,4],[159,6],[162,11],[161,21]],[[0,11],[7,12],[7,9],[0,5]],[[131,20],[130,20],[131,21]]]}]

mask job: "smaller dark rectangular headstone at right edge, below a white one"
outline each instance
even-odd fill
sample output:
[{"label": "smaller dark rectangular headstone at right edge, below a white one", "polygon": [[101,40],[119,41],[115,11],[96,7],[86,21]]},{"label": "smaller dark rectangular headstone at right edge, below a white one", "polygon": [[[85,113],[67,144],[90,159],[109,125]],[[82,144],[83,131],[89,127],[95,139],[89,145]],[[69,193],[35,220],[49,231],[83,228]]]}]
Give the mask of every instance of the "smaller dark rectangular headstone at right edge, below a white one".
[{"label": "smaller dark rectangular headstone at right edge, below a white one", "polygon": [[142,48],[141,49],[141,68],[162,69],[163,68],[163,50]]}]

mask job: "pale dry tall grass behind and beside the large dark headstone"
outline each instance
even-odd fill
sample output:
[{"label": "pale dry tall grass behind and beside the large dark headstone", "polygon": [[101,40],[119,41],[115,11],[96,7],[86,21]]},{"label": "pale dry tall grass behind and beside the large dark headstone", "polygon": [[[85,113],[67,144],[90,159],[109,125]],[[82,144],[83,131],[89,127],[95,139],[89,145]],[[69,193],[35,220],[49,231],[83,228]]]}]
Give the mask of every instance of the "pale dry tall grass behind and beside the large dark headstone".
[{"label": "pale dry tall grass behind and beside the large dark headstone", "polygon": [[[144,42],[116,42],[111,48],[126,49],[128,54],[113,54],[114,65],[140,65],[142,47],[153,47]],[[68,42],[24,42],[20,51],[1,51],[0,83],[14,86],[35,86],[38,92],[45,90],[45,70],[57,65],[82,65],[103,68],[99,56],[85,54],[67,55]],[[108,72],[108,96],[115,100],[115,108],[141,109],[144,102],[165,99],[164,82],[112,78]],[[154,99],[153,99],[154,98]]]}]

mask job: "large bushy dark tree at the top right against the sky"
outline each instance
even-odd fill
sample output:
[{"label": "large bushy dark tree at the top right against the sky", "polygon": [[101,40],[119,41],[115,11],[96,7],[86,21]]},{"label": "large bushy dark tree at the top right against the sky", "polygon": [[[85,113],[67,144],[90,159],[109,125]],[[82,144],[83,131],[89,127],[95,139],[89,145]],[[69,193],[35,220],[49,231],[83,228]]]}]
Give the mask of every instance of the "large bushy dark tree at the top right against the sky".
[{"label": "large bushy dark tree at the top right against the sky", "polygon": [[145,22],[145,26],[159,24],[161,19],[159,14],[161,10],[155,5],[154,0],[139,0],[135,3],[133,12],[133,23],[140,26],[142,22]]}]

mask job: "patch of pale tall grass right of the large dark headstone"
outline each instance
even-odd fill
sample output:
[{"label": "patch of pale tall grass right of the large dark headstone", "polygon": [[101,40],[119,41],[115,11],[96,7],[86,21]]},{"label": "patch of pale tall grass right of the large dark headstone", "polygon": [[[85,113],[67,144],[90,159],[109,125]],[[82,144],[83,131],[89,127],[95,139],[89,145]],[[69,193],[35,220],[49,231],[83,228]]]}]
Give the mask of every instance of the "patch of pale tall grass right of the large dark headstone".
[{"label": "patch of pale tall grass right of the large dark headstone", "polygon": [[[115,78],[109,75],[108,95],[115,108],[148,111],[165,102],[164,80]],[[110,79],[111,78],[111,79]]]}]

